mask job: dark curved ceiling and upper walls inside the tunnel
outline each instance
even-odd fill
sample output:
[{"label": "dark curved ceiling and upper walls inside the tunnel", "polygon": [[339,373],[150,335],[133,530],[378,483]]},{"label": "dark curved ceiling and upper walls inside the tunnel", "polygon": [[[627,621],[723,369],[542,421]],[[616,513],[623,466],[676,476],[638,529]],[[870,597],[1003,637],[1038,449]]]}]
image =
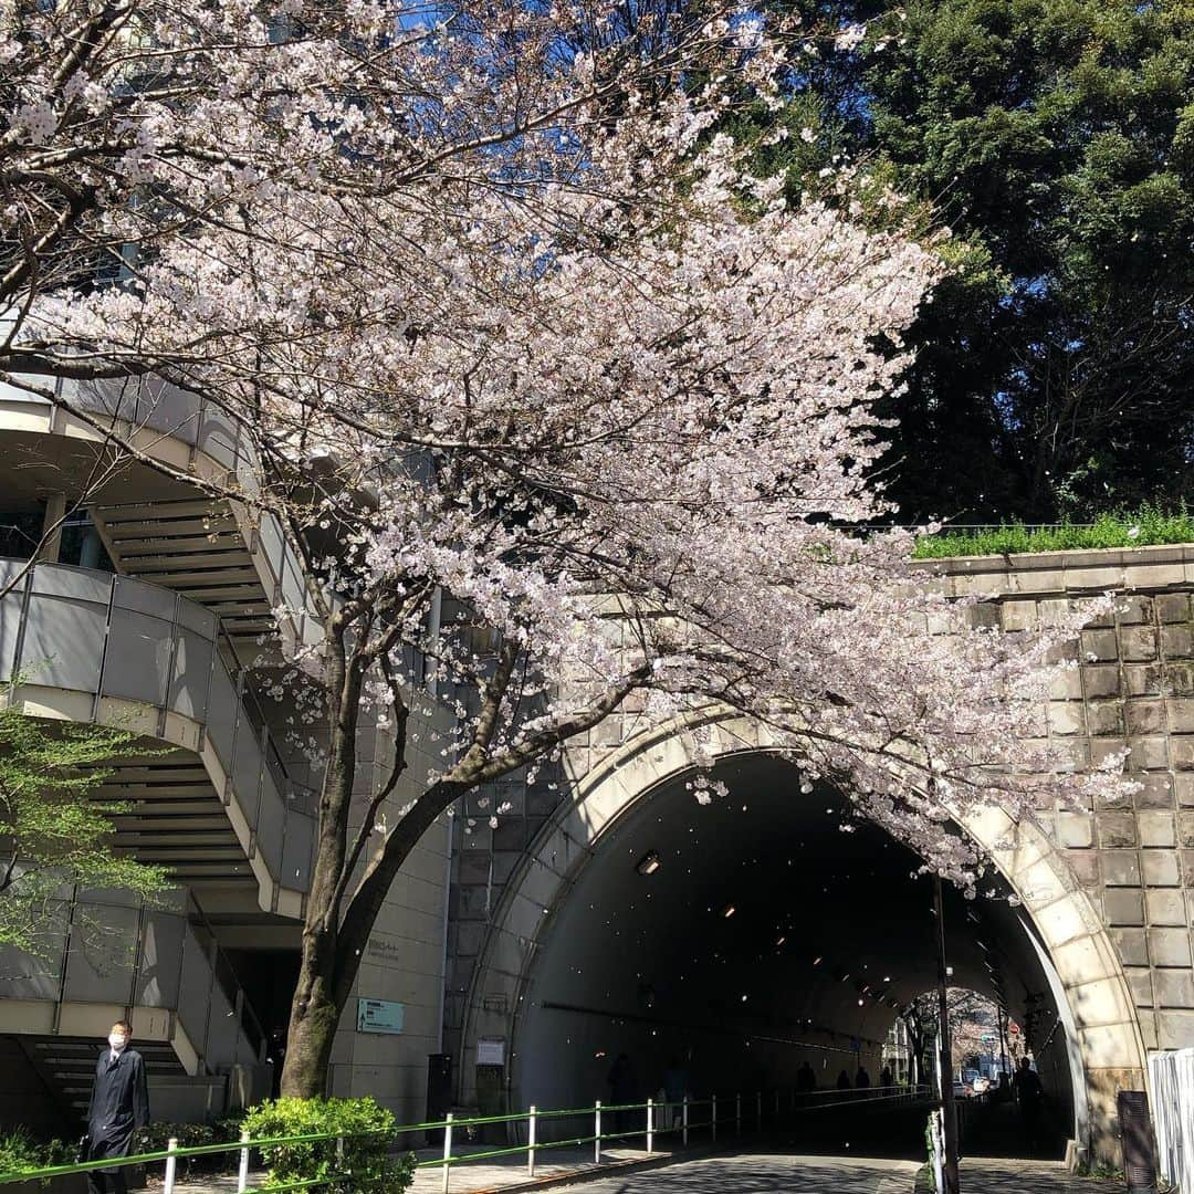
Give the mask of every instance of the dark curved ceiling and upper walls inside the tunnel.
[{"label": "dark curved ceiling and upper walls inside the tunnel", "polygon": [[[936,984],[919,860],[830,789],[802,794],[773,756],[738,756],[716,777],[728,796],[701,806],[676,781],[602,838],[541,938],[531,1007],[881,1040],[898,1005]],[[641,874],[651,854],[658,868]],[[1047,1032],[1055,1011],[1021,913],[948,888],[946,923],[952,984]]]}]

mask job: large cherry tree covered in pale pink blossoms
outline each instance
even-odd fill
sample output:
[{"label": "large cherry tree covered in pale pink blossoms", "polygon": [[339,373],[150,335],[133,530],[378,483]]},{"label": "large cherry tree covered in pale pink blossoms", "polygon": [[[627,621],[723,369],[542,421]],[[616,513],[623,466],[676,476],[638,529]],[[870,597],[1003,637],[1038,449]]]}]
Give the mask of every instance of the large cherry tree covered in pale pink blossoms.
[{"label": "large cherry tree covered in pale pink blossoms", "polygon": [[[324,641],[294,660],[328,731],[285,1093],[322,1088],[435,818],[632,696],[644,725],[758,719],[804,788],[839,786],[964,884],[983,860],[950,818],[1113,782],[1033,737],[1082,615],[971,627],[910,570],[910,534],[858,530],[886,512],[873,407],[904,364],[880,346],[938,256],[894,196],[876,232],[849,177],[790,209],[746,171],[716,128],[736,98],[775,101],[747,12],[0,12],[6,380],[61,402],[55,375],[155,373],[224,405],[269,484],[195,484],[273,510],[327,581]],[[432,636],[437,592],[482,633]],[[382,824],[408,647],[457,730]],[[363,710],[398,752],[350,832]]]}]

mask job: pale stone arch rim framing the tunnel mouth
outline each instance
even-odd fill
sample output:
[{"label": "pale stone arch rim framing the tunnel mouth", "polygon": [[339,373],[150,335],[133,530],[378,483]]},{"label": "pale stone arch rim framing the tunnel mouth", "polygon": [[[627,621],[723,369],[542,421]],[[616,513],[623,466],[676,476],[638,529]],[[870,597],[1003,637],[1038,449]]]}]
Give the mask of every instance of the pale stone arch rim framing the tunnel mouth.
[{"label": "pale stone arch rim framing the tunnel mouth", "polygon": [[[685,737],[701,728],[715,761],[777,752],[769,728],[736,714],[688,715],[635,736],[587,769],[571,765],[572,795],[524,851],[497,903],[464,998],[461,1055],[481,1038],[517,1042],[543,925],[567,899],[596,844],[640,800],[693,768]],[[583,756],[583,752],[581,752]],[[1118,1155],[1115,1094],[1140,1088],[1146,1053],[1119,955],[1064,850],[1039,826],[989,808],[961,823],[1022,901],[1070,1042],[1075,1139],[1103,1158]],[[515,1048],[516,1048],[515,1044]],[[461,1095],[472,1071],[461,1065]]]}]

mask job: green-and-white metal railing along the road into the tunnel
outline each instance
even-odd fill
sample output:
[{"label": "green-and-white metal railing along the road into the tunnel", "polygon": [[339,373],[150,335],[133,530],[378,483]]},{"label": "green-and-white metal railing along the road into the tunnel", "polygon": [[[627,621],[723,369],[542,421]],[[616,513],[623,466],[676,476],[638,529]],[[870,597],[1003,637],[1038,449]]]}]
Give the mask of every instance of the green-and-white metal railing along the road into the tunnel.
[{"label": "green-and-white metal railing along the road into the tunnel", "polygon": [[[261,1186],[250,1186],[250,1159],[254,1151],[285,1147],[295,1144],[333,1144],[337,1156],[344,1153],[344,1141],[359,1137],[384,1137],[394,1145],[405,1135],[426,1132],[443,1132],[443,1150],[441,1156],[420,1161],[417,1169],[442,1169],[444,1194],[450,1194],[453,1167],[472,1164],[479,1161],[491,1161],[498,1157],[513,1157],[527,1155],[527,1174],[535,1176],[535,1162],[538,1153],[552,1149],[580,1147],[592,1145],[595,1165],[602,1163],[602,1145],[604,1141],[623,1141],[642,1139],[647,1156],[652,1156],[659,1150],[657,1143],[660,1137],[673,1137],[682,1149],[689,1146],[690,1137],[697,1132],[708,1130],[709,1141],[716,1144],[719,1128],[725,1138],[732,1134],[740,1135],[744,1132],[761,1132],[767,1128],[776,1128],[792,1121],[794,1116],[810,1112],[837,1109],[845,1106],[855,1107],[898,1107],[907,1106],[931,1097],[928,1087],[909,1088],[874,1088],[870,1090],[825,1090],[825,1091],[795,1091],[795,1090],[771,1090],[753,1091],[744,1100],[740,1093],[728,1096],[710,1095],[708,1098],[689,1098],[685,1096],[678,1102],[659,1101],[648,1098],[645,1103],[601,1103],[596,1102],[591,1107],[565,1108],[540,1110],[537,1107],[529,1107],[525,1112],[513,1115],[473,1115],[456,1119],[453,1113],[448,1113],[442,1120],[433,1120],[426,1124],[404,1124],[393,1128],[374,1130],[368,1132],[314,1132],[304,1135],[284,1135],[253,1139],[247,1132],[241,1133],[241,1138],[230,1144],[201,1144],[191,1147],[180,1147],[177,1139],[171,1139],[165,1150],[158,1152],[143,1152],[129,1157],[109,1157],[103,1161],[79,1162],[72,1165],[54,1165],[45,1169],[25,1170],[16,1174],[0,1174],[0,1186],[8,1182],[37,1181],[49,1177],[60,1177],[68,1174],[85,1174],[98,1169],[118,1169],[129,1165],[146,1165],[159,1162],[165,1163],[165,1181],[162,1194],[174,1194],[178,1184],[178,1162],[193,1157],[210,1157],[220,1153],[236,1153],[236,1194],[246,1194],[248,1190],[256,1194],[283,1194],[285,1190],[312,1189],[319,1186],[328,1186],[340,1180],[333,1175],[321,1178],[303,1178],[291,1182],[272,1182]],[[708,1110],[703,1110],[708,1108]],[[696,1119],[694,1113],[701,1112]],[[645,1127],[626,1127],[624,1124],[609,1130],[609,1120],[603,1116],[609,1115],[645,1115]],[[660,1113],[663,1119],[660,1119]],[[667,1115],[671,1113],[671,1122]],[[701,1118],[707,1115],[708,1118]],[[581,1119],[586,1124],[592,1122],[592,1131],[587,1130],[580,1135],[567,1137],[559,1140],[540,1140],[538,1126],[546,1120]],[[515,1134],[512,1130],[525,1125],[525,1140],[515,1145],[500,1149],[487,1149],[476,1152],[455,1153],[454,1132],[460,1128],[482,1127],[491,1125],[506,1125],[507,1132]]]}]

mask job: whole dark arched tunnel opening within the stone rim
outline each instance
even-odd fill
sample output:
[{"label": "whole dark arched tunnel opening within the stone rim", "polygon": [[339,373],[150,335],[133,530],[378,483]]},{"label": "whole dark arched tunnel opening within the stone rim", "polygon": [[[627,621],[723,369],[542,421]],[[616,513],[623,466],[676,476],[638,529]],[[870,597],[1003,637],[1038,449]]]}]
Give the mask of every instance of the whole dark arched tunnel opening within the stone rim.
[{"label": "whole dark arched tunnel opening within the stone rim", "polygon": [[[802,793],[775,755],[732,756],[715,777],[728,795],[708,805],[691,775],[638,800],[550,910],[516,1026],[517,1103],[608,1100],[621,1053],[640,1098],[676,1059],[702,1095],[790,1088],[805,1060],[823,1088],[860,1061],[876,1078],[900,1007],[936,986],[933,880],[910,849],[827,787]],[[993,872],[975,899],[946,886],[949,983],[1026,1026],[1072,1135],[1072,1034],[1010,894]]]}]

